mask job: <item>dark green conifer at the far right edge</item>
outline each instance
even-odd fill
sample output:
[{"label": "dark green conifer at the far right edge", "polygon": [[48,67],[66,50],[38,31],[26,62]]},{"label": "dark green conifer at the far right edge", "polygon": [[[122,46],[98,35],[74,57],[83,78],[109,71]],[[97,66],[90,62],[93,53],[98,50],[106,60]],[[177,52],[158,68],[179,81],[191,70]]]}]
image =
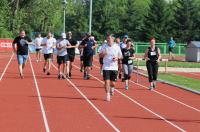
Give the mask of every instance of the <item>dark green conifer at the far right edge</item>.
[{"label": "dark green conifer at the far right edge", "polygon": [[195,0],[178,0],[175,9],[174,28],[176,39],[179,42],[187,42],[199,36],[199,23],[197,23],[198,8]]}]

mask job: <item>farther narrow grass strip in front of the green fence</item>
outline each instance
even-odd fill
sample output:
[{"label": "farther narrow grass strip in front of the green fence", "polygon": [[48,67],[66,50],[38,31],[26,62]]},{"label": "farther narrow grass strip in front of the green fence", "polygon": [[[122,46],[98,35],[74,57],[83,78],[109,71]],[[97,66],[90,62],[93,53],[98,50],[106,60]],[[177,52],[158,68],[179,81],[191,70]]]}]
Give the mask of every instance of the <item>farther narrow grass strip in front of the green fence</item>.
[{"label": "farther narrow grass strip in front of the green fence", "polygon": [[[134,61],[136,65],[137,62]],[[145,61],[139,61],[139,66],[145,66]],[[178,61],[169,61],[167,62],[168,67],[179,67],[179,68],[200,68],[200,63],[195,62],[178,62]],[[160,62],[160,67],[165,67],[165,62]]]}]

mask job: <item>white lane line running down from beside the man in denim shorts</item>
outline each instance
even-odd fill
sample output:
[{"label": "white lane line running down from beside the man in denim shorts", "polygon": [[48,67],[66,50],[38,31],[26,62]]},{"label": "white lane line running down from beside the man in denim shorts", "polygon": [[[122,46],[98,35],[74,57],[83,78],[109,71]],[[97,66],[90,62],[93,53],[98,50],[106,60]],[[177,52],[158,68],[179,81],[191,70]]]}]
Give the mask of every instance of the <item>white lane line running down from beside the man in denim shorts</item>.
[{"label": "white lane line running down from beside the man in denim shorts", "polygon": [[42,98],[41,98],[40,90],[39,90],[39,87],[38,87],[38,82],[37,82],[37,79],[36,79],[36,76],[35,76],[35,72],[34,72],[34,69],[33,69],[33,65],[32,65],[30,56],[29,56],[29,62],[30,62],[32,73],[33,73],[35,88],[36,88],[36,91],[37,91],[38,100],[39,100],[40,108],[41,108],[41,111],[42,111],[42,117],[43,117],[45,129],[46,129],[46,132],[50,132],[48,121],[47,121],[47,116],[46,116],[46,113],[45,113],[44,105],[42,103]]}]

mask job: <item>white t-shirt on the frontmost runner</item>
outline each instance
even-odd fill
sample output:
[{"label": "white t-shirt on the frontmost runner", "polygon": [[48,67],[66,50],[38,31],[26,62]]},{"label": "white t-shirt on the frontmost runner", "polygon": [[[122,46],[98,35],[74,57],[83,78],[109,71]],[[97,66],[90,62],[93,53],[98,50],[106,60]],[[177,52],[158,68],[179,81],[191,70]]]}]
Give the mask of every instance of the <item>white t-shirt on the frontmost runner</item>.
[{"label": "white t-shirt on the frontmost runner", "polygon": [[118,70],[118,61],[113,61],[114,57],[122,58],[122,52],[115,43],[112,46],[106,44],[102,47],[100,53],[106,52],[107,55],[103,58],[103,70]]}]

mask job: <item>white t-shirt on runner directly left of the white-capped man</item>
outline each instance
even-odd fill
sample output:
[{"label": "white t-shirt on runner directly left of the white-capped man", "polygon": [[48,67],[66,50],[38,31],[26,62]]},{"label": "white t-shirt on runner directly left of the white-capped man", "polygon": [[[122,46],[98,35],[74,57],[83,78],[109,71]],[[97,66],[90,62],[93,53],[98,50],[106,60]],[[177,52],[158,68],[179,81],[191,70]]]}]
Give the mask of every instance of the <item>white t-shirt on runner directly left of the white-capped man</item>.
[{"label": "white t-shirt on runner directly left of the white-capped man", "polygon": [[47,38],[45,37],[42,40],[42,44],[46,44],[46,46],[43,47],[43,53],[44,54],[50,54],[53,53],[53,47],[56,45],[56,39],[55,38]]}]

